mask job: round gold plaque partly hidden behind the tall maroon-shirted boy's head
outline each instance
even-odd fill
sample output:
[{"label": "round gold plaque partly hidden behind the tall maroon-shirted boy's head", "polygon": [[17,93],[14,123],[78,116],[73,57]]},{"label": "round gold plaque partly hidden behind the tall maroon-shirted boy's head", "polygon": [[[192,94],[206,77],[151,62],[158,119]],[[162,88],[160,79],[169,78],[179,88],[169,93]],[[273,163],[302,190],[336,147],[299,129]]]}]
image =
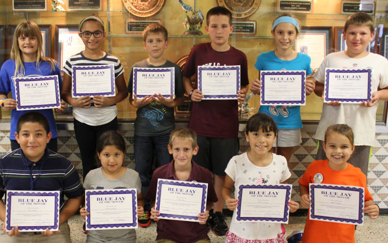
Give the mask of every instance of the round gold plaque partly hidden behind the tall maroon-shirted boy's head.
[{"label": "round gold plaque partly hidden behind the tall maroon-shirted boy's head", "polygon": [[261,0],[217,0],[219,6],[232,12],[233,18],[247,18],[254,14],[260,6]]}]

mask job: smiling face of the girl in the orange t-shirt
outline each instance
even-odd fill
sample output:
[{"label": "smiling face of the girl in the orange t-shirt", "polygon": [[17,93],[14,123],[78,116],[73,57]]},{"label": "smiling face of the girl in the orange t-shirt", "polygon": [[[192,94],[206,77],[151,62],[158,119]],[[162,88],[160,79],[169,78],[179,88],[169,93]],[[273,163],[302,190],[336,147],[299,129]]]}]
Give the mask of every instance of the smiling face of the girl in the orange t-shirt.
[{"label": "smiling face of the girl in the orange t-shirt", "polygon": [[329,167],[342,171],[348,166],[347,161],[354,151],[354,145],[344,134],[332,131],[328,134],[326,143],[323,143],[323,149],[329,159]]}]

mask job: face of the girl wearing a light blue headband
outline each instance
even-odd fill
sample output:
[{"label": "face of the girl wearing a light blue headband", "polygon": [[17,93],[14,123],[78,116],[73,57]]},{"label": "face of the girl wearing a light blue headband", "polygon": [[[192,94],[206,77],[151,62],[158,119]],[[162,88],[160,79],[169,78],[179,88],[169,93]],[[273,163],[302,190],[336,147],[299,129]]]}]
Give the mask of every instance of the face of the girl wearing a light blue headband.
[{"label": "face of the girl wearing a light blue headband", "polygon": [[286,22],[276,25],[275,30],[272,30],[271,34],[275,39],[275,47],[284,50],[293,48],[293,44],[298,37],[295,25]]}]

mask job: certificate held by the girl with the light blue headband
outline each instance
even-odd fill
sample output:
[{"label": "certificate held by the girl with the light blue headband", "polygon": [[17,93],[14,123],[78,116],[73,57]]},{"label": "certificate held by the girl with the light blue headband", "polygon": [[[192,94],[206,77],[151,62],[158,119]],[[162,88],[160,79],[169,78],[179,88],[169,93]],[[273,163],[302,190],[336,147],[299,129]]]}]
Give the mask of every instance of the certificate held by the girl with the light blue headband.
[{"label": "certificate held by the girl with the light blue headband", "polygon": [[261,104],[306,105],[306,71],[260,71]]}]

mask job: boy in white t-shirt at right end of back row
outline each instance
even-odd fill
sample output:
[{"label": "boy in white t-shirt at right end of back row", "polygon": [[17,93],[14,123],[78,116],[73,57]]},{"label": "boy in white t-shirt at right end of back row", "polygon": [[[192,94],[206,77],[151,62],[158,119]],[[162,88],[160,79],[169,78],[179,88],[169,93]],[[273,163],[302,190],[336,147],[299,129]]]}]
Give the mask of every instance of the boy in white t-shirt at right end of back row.
[{"label": "boy in white t-shirt at right end of back row", "polygon": [[[378,103],[379,100],[388,100],[388,61],[383,56],[367,50],[375,35],[373,22],[371,15],[367,13],[360,12],[349,16],[343,32],[347,50],[327,55],[314,75],[318,81],[314,92],[322,96],[326,68],[354,71],[372,69],[372,77],[369,80],[372,99],[360,103],[339,103],[337,101],[324,103],[321,120],[314,135],[314,138],[319,140],[316,159],[326,159],[322,141],[327,127],[337,123],[349,125],[355,134],[355,150],[354,156],[350,157],[348,162],[360,168],[365,175],[368,173],[370,154],[375,140]],[[344,87],[344,90],[346,89],[347,87]],[[367,93],[367,88],[365,93]]]}]

